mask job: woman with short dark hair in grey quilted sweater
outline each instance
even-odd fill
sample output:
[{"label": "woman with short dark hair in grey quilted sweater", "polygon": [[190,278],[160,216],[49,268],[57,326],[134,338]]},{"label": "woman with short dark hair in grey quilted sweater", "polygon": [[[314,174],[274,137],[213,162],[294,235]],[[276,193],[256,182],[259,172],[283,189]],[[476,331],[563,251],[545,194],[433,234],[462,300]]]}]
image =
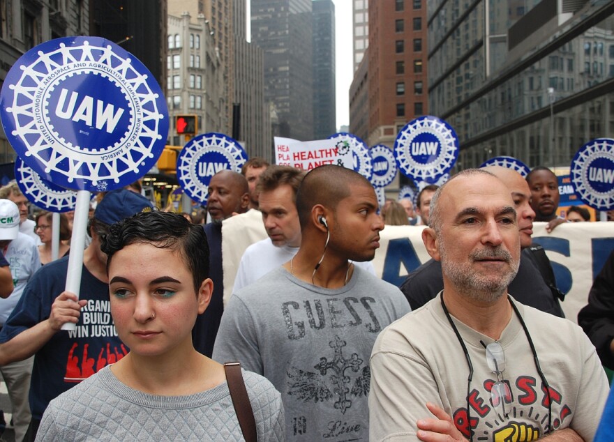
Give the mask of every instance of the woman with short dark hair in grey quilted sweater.
[{"label": "woman with short dark hair in grey quilted sweater", "polygon": [[[101,248],[111,315],[130,353],[54,399],[38,440],[243,441],[224,367],[192,343],[213,290],[202,227],[176,213],[137,213],[114,224]],[[283,441],[279,393],[263,376],[243,376],[257,440]]]}]

